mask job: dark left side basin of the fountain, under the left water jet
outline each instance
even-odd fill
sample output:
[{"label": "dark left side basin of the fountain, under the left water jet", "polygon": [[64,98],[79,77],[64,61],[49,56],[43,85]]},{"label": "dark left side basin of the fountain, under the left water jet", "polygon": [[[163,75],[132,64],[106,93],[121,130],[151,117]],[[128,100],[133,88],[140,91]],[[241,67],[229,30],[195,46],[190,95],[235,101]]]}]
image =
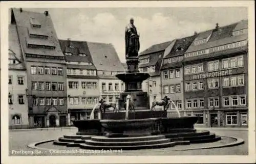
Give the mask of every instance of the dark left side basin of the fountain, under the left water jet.
[{"label": "dark left side basin of the fountain, under the left water jet", "polygon": [[77,135],[97,135],[101,132],[100,120],[74,120],[74,126],[78,128]]}]

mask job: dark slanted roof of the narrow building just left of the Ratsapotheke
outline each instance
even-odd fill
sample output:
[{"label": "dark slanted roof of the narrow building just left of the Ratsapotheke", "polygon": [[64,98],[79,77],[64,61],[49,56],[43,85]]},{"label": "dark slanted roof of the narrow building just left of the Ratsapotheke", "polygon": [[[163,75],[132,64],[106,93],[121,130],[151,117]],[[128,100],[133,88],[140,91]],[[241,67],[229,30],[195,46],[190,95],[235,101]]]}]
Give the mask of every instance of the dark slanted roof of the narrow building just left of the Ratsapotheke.
[{"label": "dark slanted roof of the narrow building just left of the Ratsapotheke", "polygon": [[169,54],[167,54],[167,56],[164,57],[164,59],[183,55],[196,37],[196,35],[193,35],[177,39],[172,50]]}]

